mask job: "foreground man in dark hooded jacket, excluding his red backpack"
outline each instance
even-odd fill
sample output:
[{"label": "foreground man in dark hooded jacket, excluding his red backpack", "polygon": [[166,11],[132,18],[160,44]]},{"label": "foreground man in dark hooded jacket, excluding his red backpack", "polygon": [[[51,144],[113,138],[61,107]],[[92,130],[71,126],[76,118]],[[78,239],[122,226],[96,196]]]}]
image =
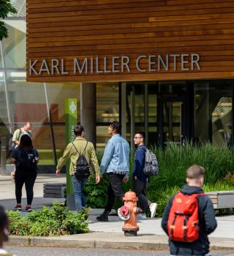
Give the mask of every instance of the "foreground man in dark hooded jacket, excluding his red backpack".
[{"label": "foreground man in dark hooded jacket, excluding his red backpack", "polygon": [[[186,170],[186,185],[181,189],[181,192],[186,195],[203,193],[205,169],[199,165],[192,165]],[[170,208],[173,204],[175,195],[170,198],[162,216],[162,229],[167,233],[167,221],[170,214]],[[214,214],[214,207],[211,199],[207,195],[197,196],[198,214],[199,214],[199,238],[192,242],[179,242],[169,239],[170,255],[211,255],[209,252],[208,235],[211,234],[217,227],[217,222]]]}]

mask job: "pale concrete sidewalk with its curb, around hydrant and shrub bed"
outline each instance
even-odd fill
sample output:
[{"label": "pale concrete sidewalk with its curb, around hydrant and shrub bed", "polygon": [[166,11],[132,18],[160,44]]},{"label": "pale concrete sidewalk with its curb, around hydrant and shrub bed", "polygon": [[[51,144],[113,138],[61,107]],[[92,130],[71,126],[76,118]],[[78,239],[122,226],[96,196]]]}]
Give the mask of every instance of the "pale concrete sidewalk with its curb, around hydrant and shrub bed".
[{"label": "pale concrete sidewalk with its curb, around hydrant and shrub bed", "polygon": [[[51,206],[53,198],[43,198],[44,182],[64,182],[65,176],[40,175],[34,186],[33,208]],[[23,206],[26,205],[26,195],[23,192]],[[63,201],[59,199],[58,201]],[[15,187],[10,176],[0,176],[0,204],[11,210],[15,206]],[[97,222],[96,217],[102,213],[102,209],[91,211],[88,220],[89,229],[93,231],[88,234],[72,236],[60,236],[52,238],[44,237],[15,237],[12,236],[9,245],[39,245],[39,246],[71,246],[71,247],[98,247],[98,248],[135,248],[135,249],[165,249],[167,248],[167,236],[160,227],[161,219],[144,219],[138,222],[140,230],[136,237],[125,237],[121,230],[123,221],[117,216],[110,216],[109,222]],[[234,249],[234,216],[217,217],[218,227],[210,236],[211,249],[232,248]]]}]

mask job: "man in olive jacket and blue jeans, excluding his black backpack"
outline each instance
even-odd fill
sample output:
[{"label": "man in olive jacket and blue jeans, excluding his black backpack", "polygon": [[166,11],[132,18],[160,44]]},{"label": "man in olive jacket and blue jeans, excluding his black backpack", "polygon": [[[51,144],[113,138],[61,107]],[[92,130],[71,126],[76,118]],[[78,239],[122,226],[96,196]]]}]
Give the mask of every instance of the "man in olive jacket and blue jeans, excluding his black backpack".
[{"label": "man in olive jacket and blue jeans, excluding his black backpack", "polygon": [[[61,167],[65,165],[68,159],[70,159],[69,174],[72,176],[72,185],[75,195],[75,206],[79,212],[83,207],[86,207],[86,198],[83,195],[83,188],[86,186],[88,178],[76,178],[75,176],[75,166],[80,154],[86,158],[86,161],[94,166],[96,175],[96,184],[100,181],[100,170],[97,160],[97,155],[94,150],[93,143],[87,141],[85,137],[85,130],[81,125],[74,128],[75,140],[69,143],[64,150],[63,156],[59,159],[58,165],[56,167],[56,175],[61,172]],[[92,165],[89,165],[92,167]]]}]

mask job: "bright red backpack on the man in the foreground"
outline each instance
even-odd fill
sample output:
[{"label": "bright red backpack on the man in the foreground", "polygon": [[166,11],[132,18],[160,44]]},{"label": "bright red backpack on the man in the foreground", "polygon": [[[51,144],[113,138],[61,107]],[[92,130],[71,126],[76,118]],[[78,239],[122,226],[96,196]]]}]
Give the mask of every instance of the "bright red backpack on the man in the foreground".
[{"label": "bright red backpack on the man in the foreground", "polygon": [[173,241],[194,242],[199,237],[199,215],[197,196],[178,192],[173,199],[167,222],[168,235]]}]

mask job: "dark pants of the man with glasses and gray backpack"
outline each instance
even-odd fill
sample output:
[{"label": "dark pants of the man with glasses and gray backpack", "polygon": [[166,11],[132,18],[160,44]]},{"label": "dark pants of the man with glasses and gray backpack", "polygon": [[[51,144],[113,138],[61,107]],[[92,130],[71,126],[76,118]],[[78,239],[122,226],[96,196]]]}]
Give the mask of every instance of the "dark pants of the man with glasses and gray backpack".
[{"label": "dark pants of the man with glasses and gray backpack", "polygon": [[144,212],[148,209],[151,204],[151,201],[146,197],[146,182],[140,181],[138,179],[133,179],[133,187],[138,197],[139,207],[143,209]]}]

